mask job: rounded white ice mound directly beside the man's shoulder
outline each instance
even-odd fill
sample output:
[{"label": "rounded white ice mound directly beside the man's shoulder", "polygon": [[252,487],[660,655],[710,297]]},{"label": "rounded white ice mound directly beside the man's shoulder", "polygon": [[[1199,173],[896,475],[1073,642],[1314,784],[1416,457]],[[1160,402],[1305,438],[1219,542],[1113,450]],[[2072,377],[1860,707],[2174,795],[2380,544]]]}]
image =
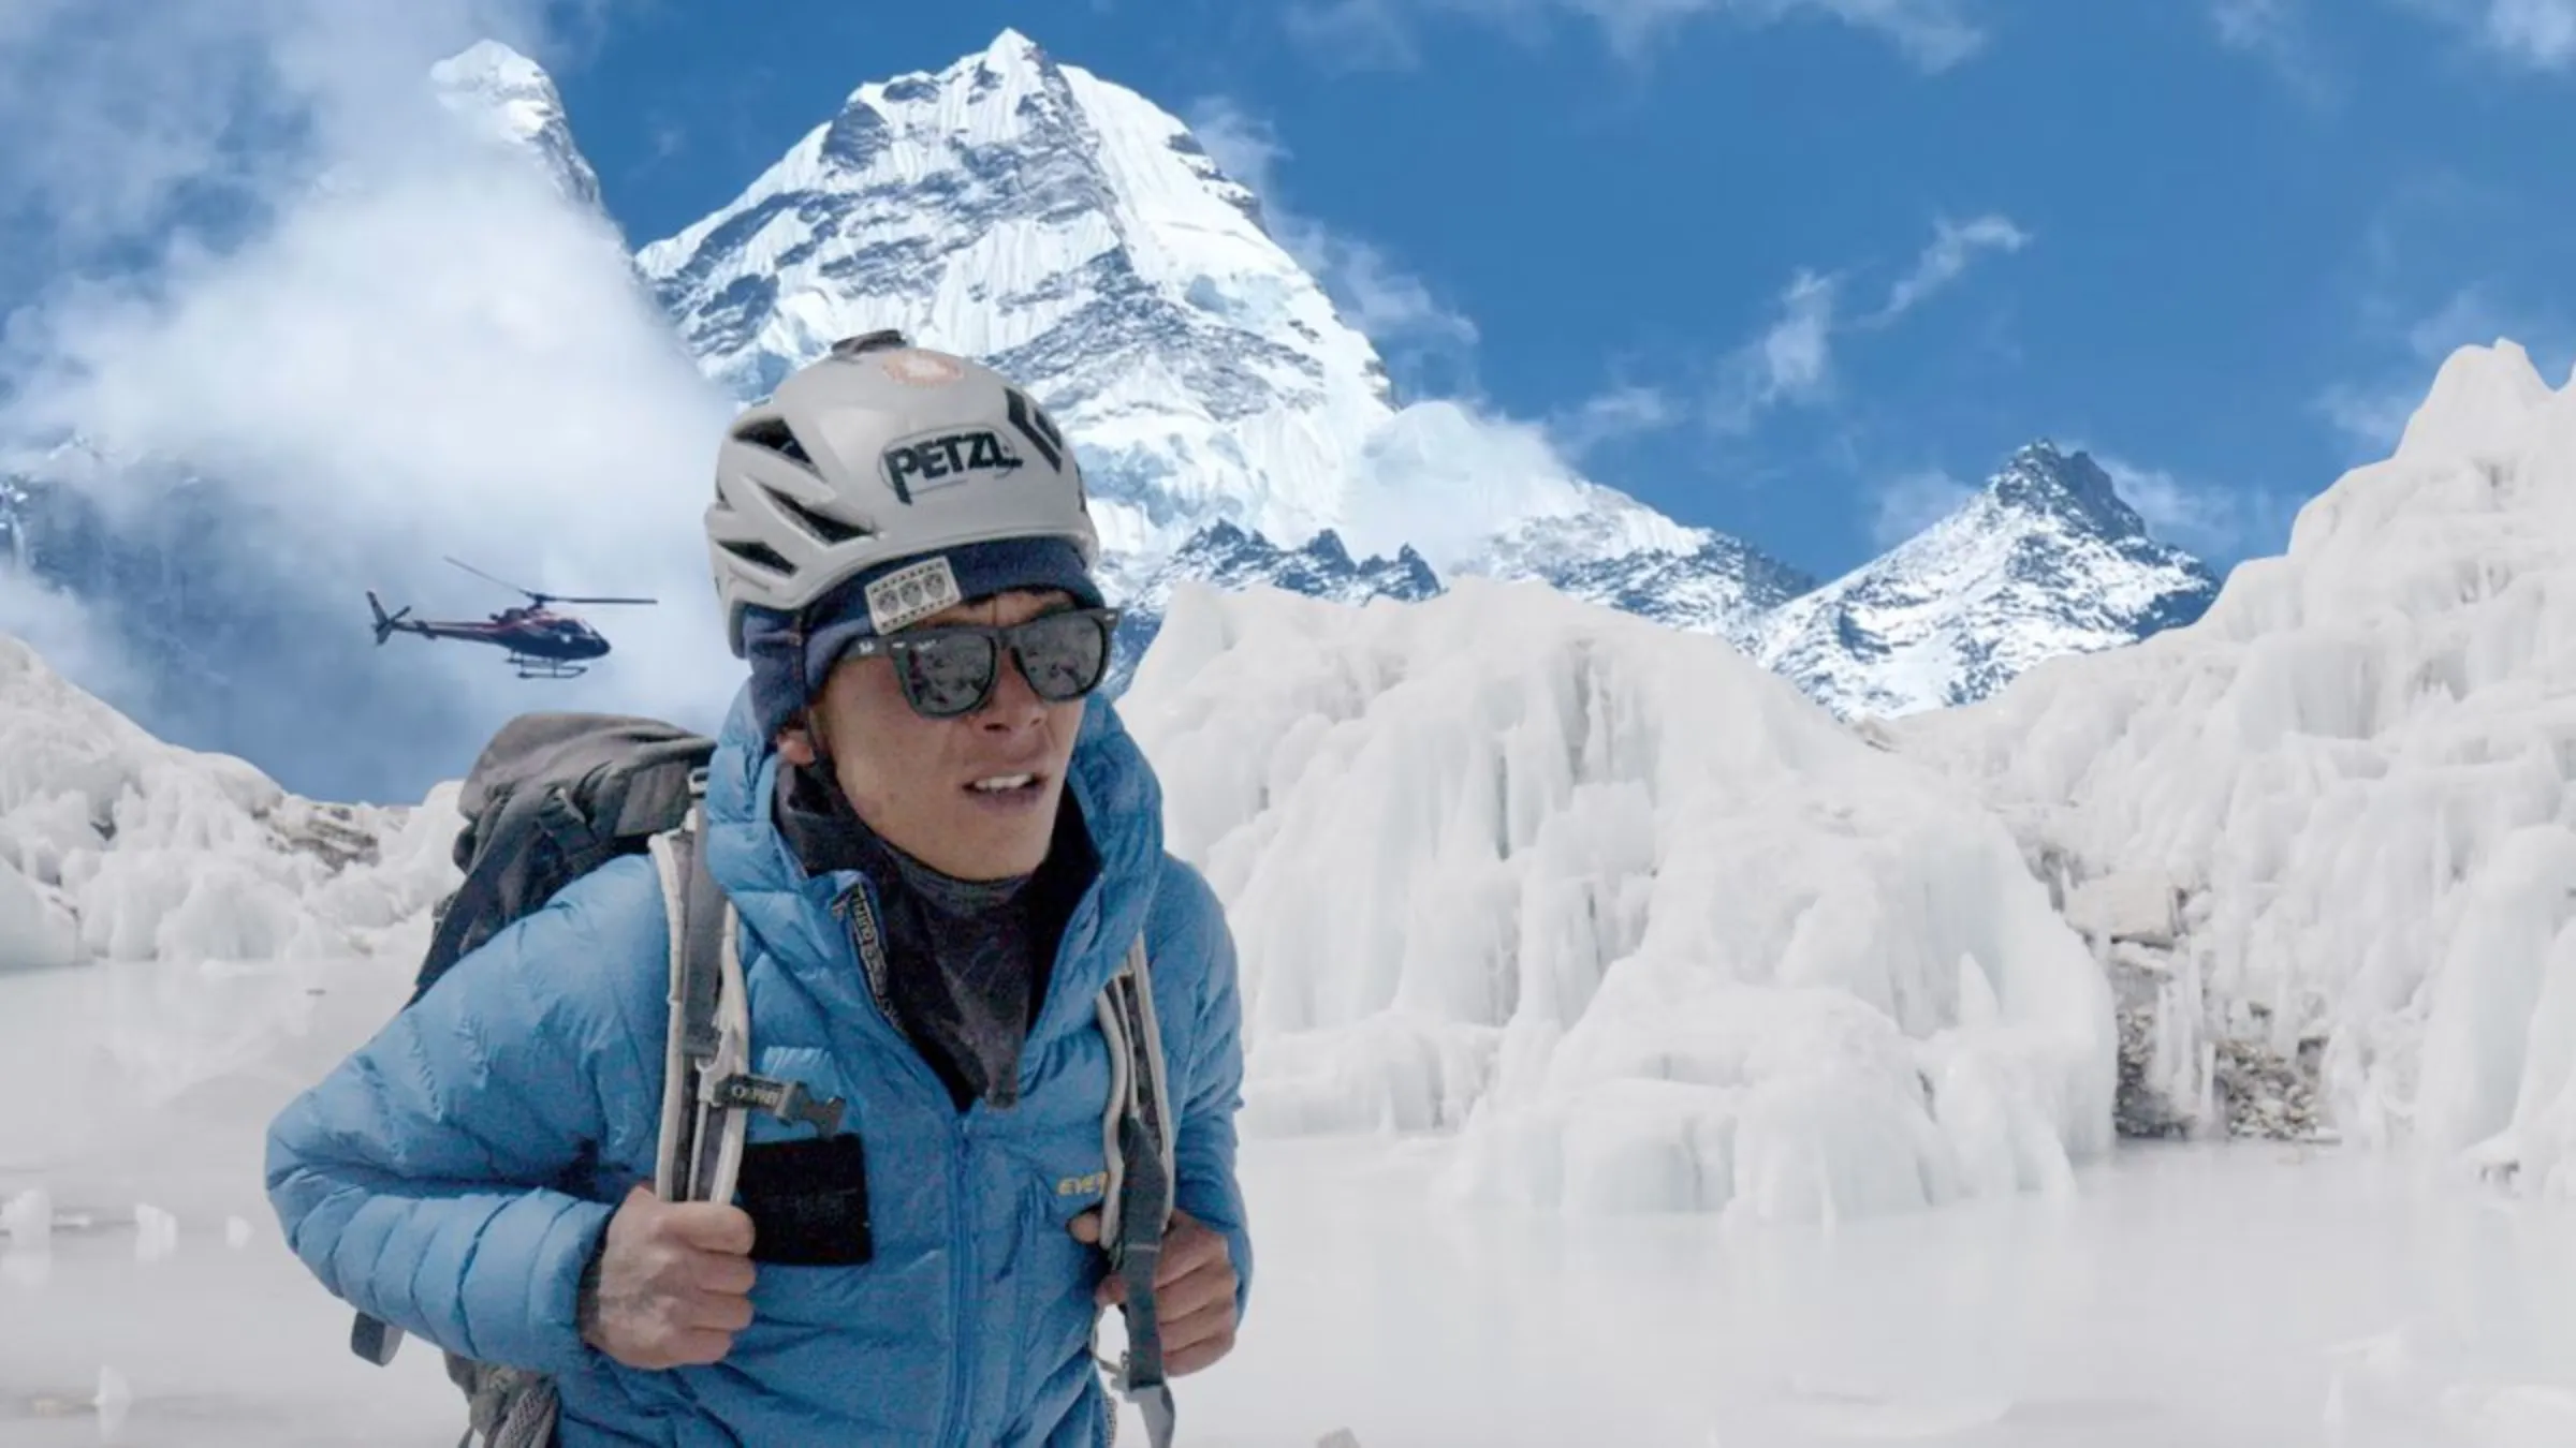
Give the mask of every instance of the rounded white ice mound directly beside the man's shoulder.
[{"label": "rounded white ice mound directly beside the man's shoulder", "polygon": [[1566,1208],[2050,1188],[2112,1007],[2012,835],[1708,636],[1533,585],[1185,587],[1126,716],[1242,951],[1247,1131]]}]

